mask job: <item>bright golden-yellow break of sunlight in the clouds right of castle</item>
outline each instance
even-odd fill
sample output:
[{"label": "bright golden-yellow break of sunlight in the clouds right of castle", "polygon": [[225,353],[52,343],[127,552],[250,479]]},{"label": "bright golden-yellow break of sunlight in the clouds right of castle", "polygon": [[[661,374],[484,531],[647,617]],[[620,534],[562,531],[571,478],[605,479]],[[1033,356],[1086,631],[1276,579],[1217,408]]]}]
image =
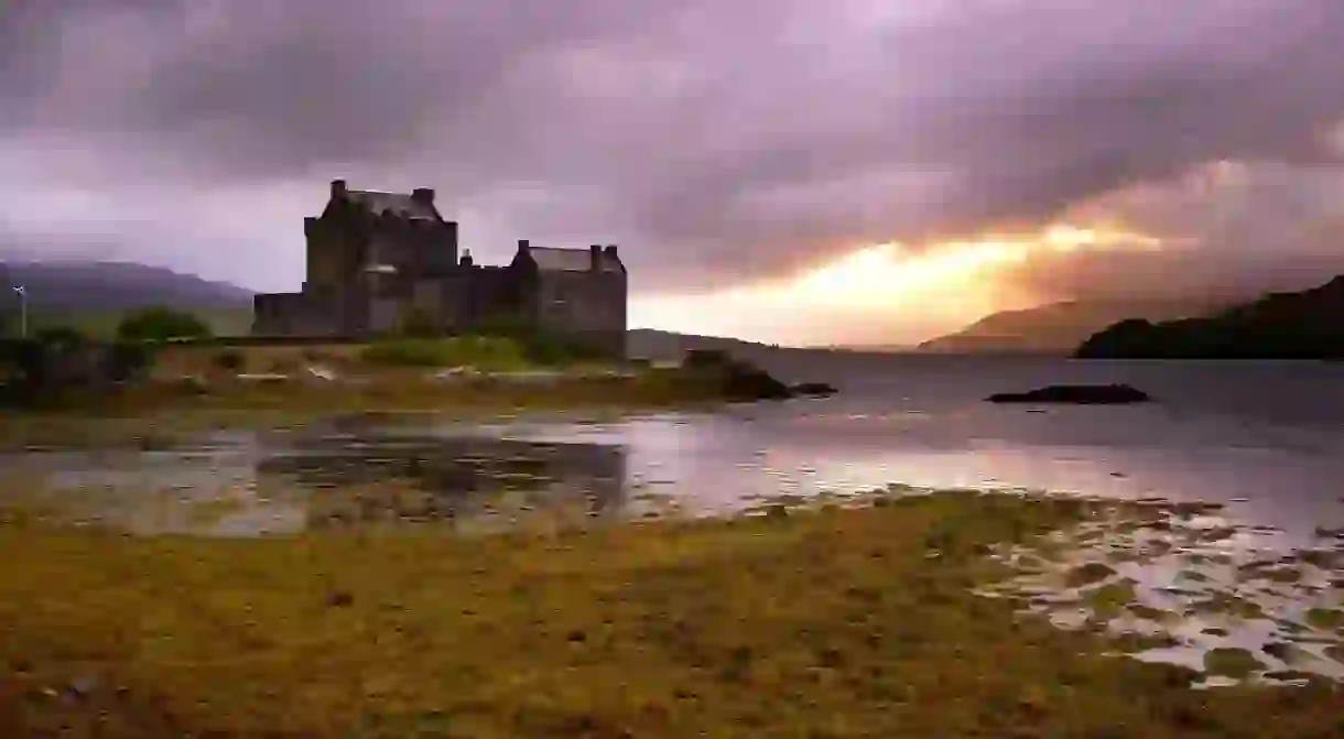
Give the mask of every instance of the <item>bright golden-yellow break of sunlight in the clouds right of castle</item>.
[{"label": "bright golden-yellow break of sunlight in the clouds right of castle", "polygon": [[1163,241],[1118,227],[1055,224],[918,247],[859,249],[792,279],[694,297],[636,298],[633,325],[800,344],[914,344],[986,313],[1040,304],[1005,273],[1038,255],[1154,251]]}]

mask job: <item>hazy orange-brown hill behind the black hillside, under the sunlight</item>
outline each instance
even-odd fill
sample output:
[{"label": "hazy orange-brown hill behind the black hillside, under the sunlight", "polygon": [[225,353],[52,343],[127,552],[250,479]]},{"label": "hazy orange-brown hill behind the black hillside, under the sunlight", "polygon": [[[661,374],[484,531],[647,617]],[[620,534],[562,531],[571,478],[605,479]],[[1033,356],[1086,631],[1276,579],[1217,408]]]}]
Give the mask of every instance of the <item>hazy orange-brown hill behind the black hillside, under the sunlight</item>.
[{"label": "hazy orange-brown hill behind the black hillside, under the sunlight", "polygon": [[992,313],[969,327],[919,344],[934,353],[1071,353],[1098,331],[1125,318],[1152,321],[1204,316],[1234,298],[1068,301]]}]

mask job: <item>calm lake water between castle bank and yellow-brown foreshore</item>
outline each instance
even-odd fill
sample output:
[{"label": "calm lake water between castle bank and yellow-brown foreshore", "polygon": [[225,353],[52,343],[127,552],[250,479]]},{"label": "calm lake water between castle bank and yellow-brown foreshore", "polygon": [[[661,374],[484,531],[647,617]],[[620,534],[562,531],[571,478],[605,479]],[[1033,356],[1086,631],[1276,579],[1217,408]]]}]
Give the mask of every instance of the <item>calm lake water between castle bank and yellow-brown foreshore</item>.
[{"label": "calm lake water between castle bank and yellow-brown foreshore", "polygon": [[[28,453],[4,466],[51,486],[132,497],[249,490],[255,505],[211,521],[215,533],[301,528],[310,519],[305,492],[390,478],[435,493],[448,508],[517,489],[544,504],[547,490],[562,488],[583,490],[593,515],[641,515],[650,497],[712,513],[780,493],[896,482],[1224,501],[1239,519],[1294,540],[1344,525],[1341,364],[818,355],[770,368],[832,382],[841,394],[610,423],[333,418],[298,430],[214,433],[156,451]],[[1064,382],[1125,382],[1159,403],[1042,410],[982,402]]]}]

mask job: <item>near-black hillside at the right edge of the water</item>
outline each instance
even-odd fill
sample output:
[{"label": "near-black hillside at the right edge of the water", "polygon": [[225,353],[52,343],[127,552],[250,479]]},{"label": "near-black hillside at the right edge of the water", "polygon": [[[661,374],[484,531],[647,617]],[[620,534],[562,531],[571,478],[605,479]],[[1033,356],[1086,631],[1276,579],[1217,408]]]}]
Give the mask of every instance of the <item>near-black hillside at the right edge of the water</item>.
[{"label": "near-black hillside at the right edge of the water", "polygon": [[1120,321],[1078,357],[1344,359],[1344,274],[1298,293],[1270,293],[1206,318]]}]

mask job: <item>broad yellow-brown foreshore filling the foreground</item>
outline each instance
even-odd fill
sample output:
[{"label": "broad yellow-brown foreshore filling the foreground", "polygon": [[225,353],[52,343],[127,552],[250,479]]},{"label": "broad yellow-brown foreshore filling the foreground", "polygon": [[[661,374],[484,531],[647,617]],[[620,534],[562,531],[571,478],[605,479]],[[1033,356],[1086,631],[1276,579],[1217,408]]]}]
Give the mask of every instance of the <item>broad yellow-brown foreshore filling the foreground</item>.
[{"label": "broad yellow-brown foreshore filling the foreground", "polygon": [[[1321,684],[1193,692],[970,589],[1099,504],[460,540],[0,527],[0,734],[1337,736]],[[27,732],[27,734],[26,734]],[[703,734],[702,734],[703,732]]]}]

